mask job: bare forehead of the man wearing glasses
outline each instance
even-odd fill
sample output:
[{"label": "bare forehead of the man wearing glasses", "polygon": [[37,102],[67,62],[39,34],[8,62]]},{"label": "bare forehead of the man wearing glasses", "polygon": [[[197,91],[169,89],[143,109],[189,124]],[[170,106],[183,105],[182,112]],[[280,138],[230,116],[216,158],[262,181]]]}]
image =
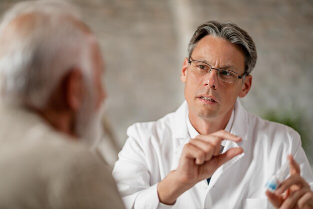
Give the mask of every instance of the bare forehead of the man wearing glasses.
[{"label": "bare forehead of the man wearing glasses", "polygon": [[214,67],[235,66],[244,70],[244,53],[242,49],[222,38],[210,35],[198,41],[191,57],[195,60],[206,61]]}]

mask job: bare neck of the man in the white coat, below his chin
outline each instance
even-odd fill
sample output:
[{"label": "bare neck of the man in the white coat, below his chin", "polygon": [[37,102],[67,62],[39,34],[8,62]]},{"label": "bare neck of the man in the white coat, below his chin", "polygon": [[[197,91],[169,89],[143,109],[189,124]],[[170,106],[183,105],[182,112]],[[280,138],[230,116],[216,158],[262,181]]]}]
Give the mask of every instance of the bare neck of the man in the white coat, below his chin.
[{"label": "bare neck of the man in the white coat, below his chin", "polygon": [[208,135],[226,127],[233,109],[230,109],[226,114],[213,117],[202,118],[197,115],[192,115],[189,112],[189,120],[195,130],[201,135]]}]

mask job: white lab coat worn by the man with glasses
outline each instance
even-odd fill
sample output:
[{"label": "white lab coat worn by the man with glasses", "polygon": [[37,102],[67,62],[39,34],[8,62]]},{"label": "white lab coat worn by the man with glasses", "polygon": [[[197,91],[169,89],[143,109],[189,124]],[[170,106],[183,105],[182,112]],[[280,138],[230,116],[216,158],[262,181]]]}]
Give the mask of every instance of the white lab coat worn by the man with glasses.
[{"label": "white lab coat worn by the man with glasses", "polygon": [[247,113],[237,100],[230,132],[239,143],[226,141],[224,151],[240,146],[244,153],[220,166],[212,175],[179,196],[174,205],[159,202],[156,186],[177,168],[187,131],[187,103],[155,122],[136,123],[127,130],[128,139],[119,153],[113,177],[126,208],[199,209],[271,208],[264,185],[292,154],[301,175],[313,187],[313,173],[293,129]]}]

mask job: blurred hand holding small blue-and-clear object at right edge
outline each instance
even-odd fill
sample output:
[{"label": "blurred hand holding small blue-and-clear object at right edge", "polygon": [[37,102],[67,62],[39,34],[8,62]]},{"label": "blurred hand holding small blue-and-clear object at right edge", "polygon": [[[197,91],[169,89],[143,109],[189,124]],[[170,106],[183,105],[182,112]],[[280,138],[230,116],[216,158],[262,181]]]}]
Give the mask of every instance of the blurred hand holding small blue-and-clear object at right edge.
[{"label": "blurred hand holding small blue-and-clear object at right edge", "polygon": [[300,176],[299,165],[291,155],[288,160],[290,177],[284,180],[274,193],[266,191],[269,201],[279,209],[313,209],[313,191]]}]

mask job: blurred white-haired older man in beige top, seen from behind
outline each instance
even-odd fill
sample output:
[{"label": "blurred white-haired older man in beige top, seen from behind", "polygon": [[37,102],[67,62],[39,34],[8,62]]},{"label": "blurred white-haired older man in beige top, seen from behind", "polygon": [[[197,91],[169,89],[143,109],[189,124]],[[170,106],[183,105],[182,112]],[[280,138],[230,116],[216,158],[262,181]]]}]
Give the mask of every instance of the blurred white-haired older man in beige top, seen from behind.
[{"label": "blurred white-haired older man in beige top, seen from behind", "polygon": [[103,64],[75,8],[18,3],[3,16],[0,46],[0,208],[124,208],[90,152]]}]

